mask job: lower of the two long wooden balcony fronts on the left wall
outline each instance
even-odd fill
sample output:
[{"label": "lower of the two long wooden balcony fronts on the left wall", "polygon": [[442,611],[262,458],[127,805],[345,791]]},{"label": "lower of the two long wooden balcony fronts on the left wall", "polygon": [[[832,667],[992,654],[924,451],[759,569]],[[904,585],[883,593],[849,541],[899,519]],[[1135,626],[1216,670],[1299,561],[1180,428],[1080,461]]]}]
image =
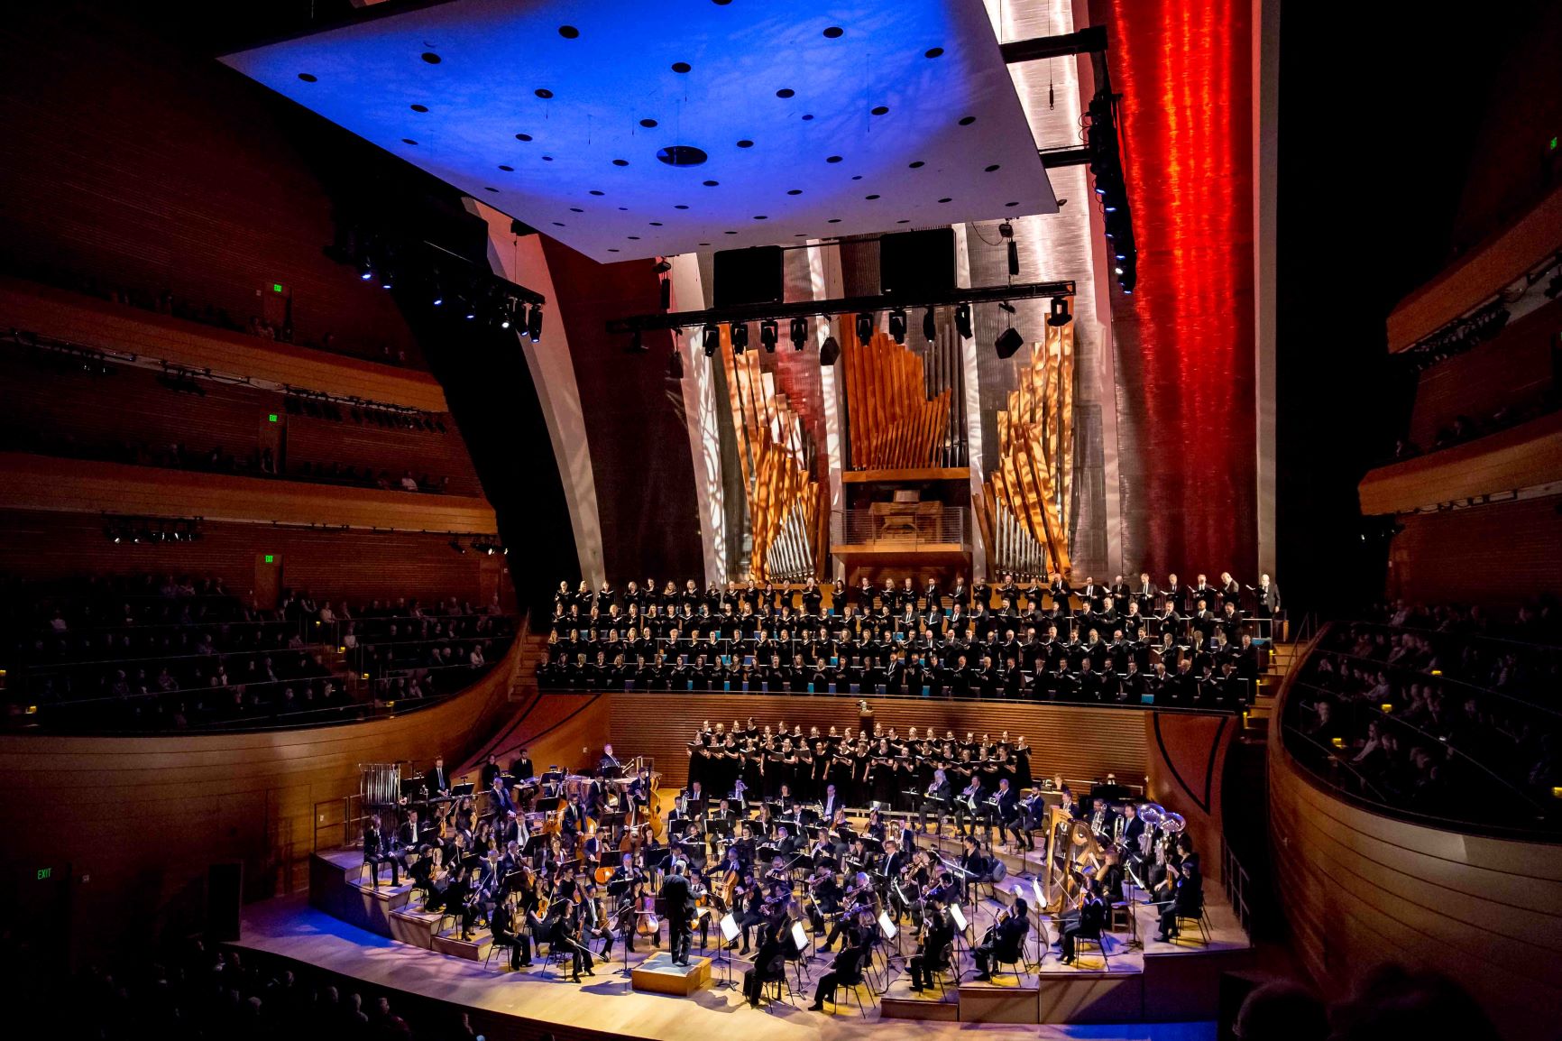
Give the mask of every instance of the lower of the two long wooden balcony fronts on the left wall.
[{"label": "lower of the two long wooden balcony fronts on the left wall", "polygon": [[414,531],[497,530],[494,508],[464,495],[305,485],[19,452],[0,452],[0,481],[8,488],[6,506],[14,510],[112,511]]}]

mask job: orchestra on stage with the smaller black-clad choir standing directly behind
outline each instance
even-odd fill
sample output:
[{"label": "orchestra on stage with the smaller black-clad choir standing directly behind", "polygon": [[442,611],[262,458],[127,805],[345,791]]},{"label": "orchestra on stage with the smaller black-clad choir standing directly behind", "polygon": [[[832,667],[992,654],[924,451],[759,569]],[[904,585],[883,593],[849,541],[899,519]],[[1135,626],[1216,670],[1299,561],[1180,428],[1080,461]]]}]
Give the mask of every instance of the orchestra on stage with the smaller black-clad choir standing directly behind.
[{"label": "orchestra on stage with the smaller black-clad choir standing directly behind", "polygon": [[[798,750],[811,750],[812,763]],[[731,916],[725,949],[745,960],[753,952],[744,977],[751,1003],[786,961],[834,953],[814,994],[822,1008],[840,986],[861,983],[872,953],[892,944],[893,930],[881,922],[909,922],[914,952],[892,952],[914,993],[958,969],[961,935],[975,978],[986,980],[993,966],[1020,958],[1032,922],[1015,889],[976,939],[970,928],[984,903],[976,886],[1004,878],[1000,847],[1023,857],[1032,833],[1045,835],[1053,821],[1059,838],[1072,828],[1093,850],[1075,864],[1059,905],[1045,908],[1057,916],[1065,964],[1076,960],[1078,939],[1101,936],[1109,903],[1129,885],[1156,907],[1157,939],[1176,938],[1178,921],[1203,910],[1198,855],[1176,814],[1120,800],[1125,789],[1111,777],[1086,807],[1061,778],[1032,778],[1025,738],[1009,733],[706,721],[689,742],[689,783],[669,792],[665,816],[659,774],[644,760],[620,761],[611,746],[587,775],[558,767],[539,775],[520,760],[515,774],[489,757],[476,794],[437,763],[406,783],[400,805],[366,816],[362,833],[370,885],[380,883],[380,864],[390,866],[392,886],[405,871],[422,893],[420,910],[448,916],[451,935],[469,943],[490,930],[514,971],[533,964],[542,944],[572,980],[590,977],[615,947],[623,958],[637,944],[661,947],[664,925],[672,961],[687,966],[697,927],[706,950],[712,924]],[[875,783],[879,771],[895,778],[889,789]],[[622,825],[608,827],[615,816]],[[934,844],[923,846],[929,816]],[[945,817],[954,821],[958,852],[945,853]],[[956,910],[967,922],[959,930]],[[804,924],[815,950],[800,947]],[[1040,922],[1034,927],[1045,939]]]}]

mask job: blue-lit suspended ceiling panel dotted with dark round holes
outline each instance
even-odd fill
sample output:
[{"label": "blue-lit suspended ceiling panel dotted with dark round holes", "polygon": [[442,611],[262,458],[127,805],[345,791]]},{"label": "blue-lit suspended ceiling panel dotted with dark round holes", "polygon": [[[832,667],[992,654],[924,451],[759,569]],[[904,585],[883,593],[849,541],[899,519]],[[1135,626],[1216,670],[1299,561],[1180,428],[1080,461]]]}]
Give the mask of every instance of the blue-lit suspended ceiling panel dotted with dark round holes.
[{"label": "blue-lit suspended ceiling panel dotted with dark round holes", "polygon": [[1057,209],[972,0],[450,0],[223,61],[600,261]]}]

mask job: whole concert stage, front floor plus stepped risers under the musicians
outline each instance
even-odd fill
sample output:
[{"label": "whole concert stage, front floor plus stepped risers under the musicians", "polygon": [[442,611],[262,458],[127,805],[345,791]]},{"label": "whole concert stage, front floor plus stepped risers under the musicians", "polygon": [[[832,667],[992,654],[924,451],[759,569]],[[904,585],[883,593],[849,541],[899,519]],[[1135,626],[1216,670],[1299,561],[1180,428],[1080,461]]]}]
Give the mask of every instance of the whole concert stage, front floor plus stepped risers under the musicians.
[{"label": "whole concert stage, front floor plus stepped risers under the musicians", "polygon": [[[1109,946],[1111,966],[1106,971],[1100,968],[1101,960],[1093,949],[1086,953],[1082,968],[1059,964],[1056,950],[1048,950],[1039,974],[1032,966],[1015,978],[1012,966],[1004,966],[1006,971],[997,972],[993,983],[975,983],[967,955],[961,958],[965,974],[958,986],[951,985],[943,996],[937,989],[931,996],[915,996],[909,991],[903,963],[897,960],[887,989],[865,999],[865,1016],[854,1000],[848,1003],[845,989],[837,994],[840,1005],[834,1007],[834,1014],[806,1011],[812,1000],[812,982],[828,971],[833,957],[818,953],[803,978],[803,991],[795,994],[795,1005],[783,999],[769,1010],[753,1011],[736,989],[751,963],[736,957],[736,952],[729,966],[733,989],[723,986],[728,966],[717,958],[717,950],[708,950],[704,953],[712,957],[711,985],[689,997],[631,986],[631,972],[654,953],[644,944],[629,955],[628,968],[619,947],[619,960],[600,963],[597,975],[584,977],[581,983],[569,982],[567,972],[558,968],[544,969],[540,958],[530,969],[509,972],[503,952],[487,958],[486,933],[478,933],[470,944],[450,943],[453,938],[437,932],[437,919],[428,921],[433,916],[422,916],[408,905],[406,885],[384,885],[378,893],[359,886],[359,864],[361,853],[355,850],[316,855],[311,872],[314,893],[245,908],[244,933],[236,946],[470,1008],[473,1022],[489,1038],[530,1038],[539,1027],[558,1025],[565,1032],[590,1030],[656,1041],[709,1038],[712,1032],[714,1036],[742,1032],[745,1038],[793,1039],[861,1035],[875,1030],[878,1019],[895,1019],[895,1025],[886,1024],[884,1030],[909,1030],[928,1041],[945,1035],[953,1038],[953,1032],[972,1028],[997,1036],[1023,1032],[1032,1038],[1206,1041],[1214,1038],[1211,1021],[1217,1014],[1221,974],[1248,968],[1251,955],[1251,946],[1223,894],[1209,886],[1207,946],[1186,936],[1176,944],[1156,943],[1153,913],[1139,908],[1137,927],[1145,947],[1129,949],[1128,933],[1120,930],[1117,943]],[[992,914],[1012,900],[1017,888],[1028,893],[1028,886],[1029,880],[1006,880],[997,899],[982,902],[975,933],[986,930]],[[1056,935],[1051,925],[1048,928]],[[712,928],[712,935],[715,932]],[[698,943],[698,936],[695,939]],[[906,949],[912,949],[909,938]],[[1034,933],[1028,953],[1034,958]],[[698,958],[698,947],[695,955]]]}]

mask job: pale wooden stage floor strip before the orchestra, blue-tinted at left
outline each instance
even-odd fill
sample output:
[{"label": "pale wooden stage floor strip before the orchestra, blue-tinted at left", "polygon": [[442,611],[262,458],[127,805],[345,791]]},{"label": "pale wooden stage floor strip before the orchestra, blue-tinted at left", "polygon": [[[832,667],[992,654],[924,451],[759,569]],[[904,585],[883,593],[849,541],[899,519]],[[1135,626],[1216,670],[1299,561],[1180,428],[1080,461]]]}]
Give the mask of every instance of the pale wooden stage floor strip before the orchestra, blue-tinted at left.
[{"label": "pale wooden stage floor strip before the orchestra, blue-tinted at left", "polygon": [[[697,936],[698,941],[698,936]],[[508,1036],[531,1036],[537,1024],[561,1024],[600,1030],[648,1041],[712,1041],[712,1038],[753,1038],[756,1041],[804,1041],[858,1038],[868,1033],[884,1036],[898,1032],[915,1041],[943,1041],[970,1032],[990,1038],[1100,1038],[1123,1041],[1214,1041],[1214,1022],[1128,1022],[1112,1025],[1048,1025],[1048,1024],[973,1024],[898,1019],[879,1022],[870,1007],[864,1019],[854,1005],[840,1005],[834,1014],[812,1013],[804,1007],[812,993],[798,994],[797,1007],[778,1005],[751,1010],[739,989],[722,989],[725,969],[712,969],[709,989],[690,997],[637,993],[629,989],[629,977],[622,961],[598,964],[595,977],[570,983],[556,971],[544,977],[534,966],[509,972],[495,957],[489,968],[481,961],[448,957],[412,944],[370,933],[319,911],[306,894],[278,897],[253,903],[244,913],[241,949],[259,950],[319,966],[328,972],[392,988],[426,999],[450,1002],[478,1013],[480,1025],[492,1041]],[[698,950],[698,947],[697,947]],[[644,947],[631,955],[631,963],[645,958]],[[828,968],[829,955],[812,963],[817,980]],[[747,961],[734,957],[733,980],[740,982]],[[1114,957],[1117,969],[1117,957]],[[1126,964],[1123,966],[1126,968]],[[1048,972],[1073,972],[1047,960]],[[903,978],[897,978],[903,988]],[[892,985],[892,991],[897,988]],[[893,997],[893,994],[892,994]],[[845,1000],[845,993],[840,994]],[[826,1005],[829,1008],[829,1005]],[[506,1021],[508,1027],[506,1028]]]}]

